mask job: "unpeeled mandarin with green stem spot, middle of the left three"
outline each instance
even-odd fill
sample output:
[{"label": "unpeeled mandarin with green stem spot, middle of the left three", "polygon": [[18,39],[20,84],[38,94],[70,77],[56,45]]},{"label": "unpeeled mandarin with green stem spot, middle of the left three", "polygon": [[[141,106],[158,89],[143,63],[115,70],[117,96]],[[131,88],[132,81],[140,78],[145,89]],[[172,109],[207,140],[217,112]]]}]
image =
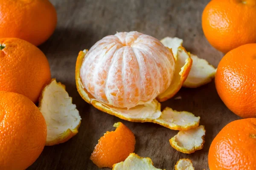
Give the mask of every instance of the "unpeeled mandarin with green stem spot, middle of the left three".
[{"label": "unpeeled mandarin with green stem spot, middle of the left three", "polygon": [[47,58],[35,45],[17,38],[2,38],[0,44],[0,91],[10,91],[38,102],[44,86],[51,81]]}]

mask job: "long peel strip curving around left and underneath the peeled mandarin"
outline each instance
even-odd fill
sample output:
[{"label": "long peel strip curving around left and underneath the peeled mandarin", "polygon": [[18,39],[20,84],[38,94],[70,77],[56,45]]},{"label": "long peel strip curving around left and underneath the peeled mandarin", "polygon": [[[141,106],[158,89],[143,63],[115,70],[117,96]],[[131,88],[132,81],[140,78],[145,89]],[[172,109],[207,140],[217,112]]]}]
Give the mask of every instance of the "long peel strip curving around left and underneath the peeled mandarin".
[{"label": "long peel strip curving around left and underneath the peeled mandarin", "polygon": [[[179,49],[185,52],[183,48],[179,48]],[[76,85],[81,97],[86,102],[93,105],[95,108],[130,122],[153,122],[173,130],[188,130],[189,128],[198,126],[200,117],[195,117],[192,113],[189,114],[188,112],[177,112],[177,111],[169,112],[170,110],[168,109],[167,109],[168,111],[165,110],[162,113],[161,104],[156,99],[154,99],[150,103],[146,103],[144,105],[137,105],[136,107],[130,108],[130,109],[117,108],[117,107],[109,106],[102,102],[99,102],[98,100],[93,98],[93,96],[90,95],[88,91],[86,91],[80,79],[81,62],[83,61],[86,52],[87,52],[86,50],[80,51],[77,59]],[[185,116],[185,118],[182,118],[182,115]],[[182,121],[183,119],[187,118],[187,115],[189,115],[192,118],[192,120],[194,119],[197,119],[197,120],[195,120],[192,123],[190,122],[187,125],[182,124],[179,121],[176,121],[177,118],[175,116],[182,118],[181,119]]]}]

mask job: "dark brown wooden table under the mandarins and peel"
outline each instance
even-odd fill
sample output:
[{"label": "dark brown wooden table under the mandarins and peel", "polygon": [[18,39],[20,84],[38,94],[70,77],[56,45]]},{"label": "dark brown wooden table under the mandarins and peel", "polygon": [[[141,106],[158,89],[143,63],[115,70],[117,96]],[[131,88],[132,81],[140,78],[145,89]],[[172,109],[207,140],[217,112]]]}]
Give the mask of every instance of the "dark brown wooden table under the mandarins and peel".
[{"label": "dark brown wooden table under the mandarins and peel", "polygon": [[[79,133],[64,144],[45,147],[29,170],[97,170],[90,154],[98,139],[115,122],[123,122],[136,136],[135,153],[150,157],[155,167],[174,170],[176,161],[189,158],[195,170],[209,170],[207,154],[213,138],[227,123],[239,119],[221,102],[214,82],[200,88],[182,88],[162,108],[189,111],[205,125],[204,149],[183,154],[171,147],[177,131],[153,123],[134,123],[98,111],[79,96],[75,83],[76,57],[80,50],[116,31],[139,31],[158,39],[180,37],[184,47],[217,67],[223,54],[212,48],[201,28],[201,14],[209,0],[51,0],[58,12],[58,26],[39,48],[46,54],[52,77],[67,86],[82,121]],[[108,169],[108,168],[106,168]]]}]

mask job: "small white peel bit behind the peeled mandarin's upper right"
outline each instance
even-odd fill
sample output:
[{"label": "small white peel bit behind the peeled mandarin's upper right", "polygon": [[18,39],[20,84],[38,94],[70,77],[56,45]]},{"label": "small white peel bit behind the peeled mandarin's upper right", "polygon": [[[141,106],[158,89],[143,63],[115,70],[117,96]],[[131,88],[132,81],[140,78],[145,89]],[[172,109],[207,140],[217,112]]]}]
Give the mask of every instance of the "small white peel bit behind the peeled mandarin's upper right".
[{"label": "small white peel bit behind the peeled mandarin's upper right", "polygon": [[177,61],[178,48],[182,46],[183,40],[177,37],[165,37],[162,40],[160,40],[160,42],[162,42],[164,46],[172,49],[173,57],[175,61]]}]

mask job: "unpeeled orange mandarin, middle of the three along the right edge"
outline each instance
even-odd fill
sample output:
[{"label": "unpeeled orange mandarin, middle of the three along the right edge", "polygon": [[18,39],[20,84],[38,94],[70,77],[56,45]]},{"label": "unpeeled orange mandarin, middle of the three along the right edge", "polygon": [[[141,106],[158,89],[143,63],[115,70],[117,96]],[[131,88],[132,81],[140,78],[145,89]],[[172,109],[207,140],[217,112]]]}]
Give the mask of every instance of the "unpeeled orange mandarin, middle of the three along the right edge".
[{"label": "unpeeled orange mandarin, middle of the three along the right edge", "polygon": [[256,44],[242,45],[228,52],[218,65],[215,86],[233,113],[256,117]]}]

